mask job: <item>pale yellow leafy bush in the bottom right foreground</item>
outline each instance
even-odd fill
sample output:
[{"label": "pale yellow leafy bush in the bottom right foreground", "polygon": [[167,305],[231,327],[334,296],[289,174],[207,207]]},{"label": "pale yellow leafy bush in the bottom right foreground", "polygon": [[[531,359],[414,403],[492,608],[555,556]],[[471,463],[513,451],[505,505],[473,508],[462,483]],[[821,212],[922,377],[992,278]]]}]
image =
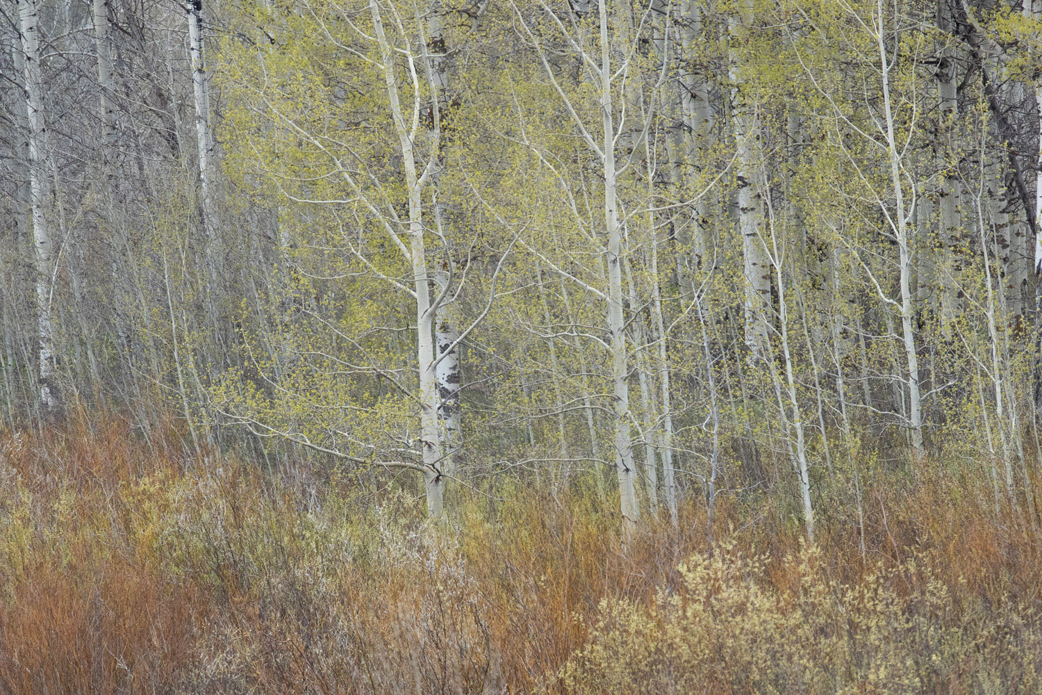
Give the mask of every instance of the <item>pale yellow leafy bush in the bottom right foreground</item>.
[{"label": "pale yellow leafy bush in the bottom right foreground", "polygon": [[765,557],[733,544],[693,556],[650,605],[601,602],[589,643],[562,672],[579,693],[1034,693],[1042,661],[1033,609],[961,604],[926,556],[876,567],[857,586],[804,547],[773,586]]}]

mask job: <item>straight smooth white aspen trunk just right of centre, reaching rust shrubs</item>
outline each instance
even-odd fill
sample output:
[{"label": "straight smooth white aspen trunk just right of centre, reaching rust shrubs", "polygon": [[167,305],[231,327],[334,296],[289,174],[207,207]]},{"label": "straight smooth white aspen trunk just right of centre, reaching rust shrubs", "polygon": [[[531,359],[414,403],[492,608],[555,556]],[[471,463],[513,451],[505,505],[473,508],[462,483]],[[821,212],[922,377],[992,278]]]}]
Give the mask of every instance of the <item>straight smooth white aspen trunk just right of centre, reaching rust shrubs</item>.
[{"label": "straight smooth white aspen trunk just right of centre, reaching rust shrubs", "polygon": [[603,122],[604,229],[607,234],[607,326],[612,348],[612,384],[615,395],[615,466],[619,479],[619,508],[626,544],[637,532],[640,507],[634,483],[634,451],[629,436],[629,384],[626,355],[624,297],[622,294],[622,229],[616,200],[615,126],[612,101],[611,45],[607,39],[607,0],[599,0],[600,108]]}]

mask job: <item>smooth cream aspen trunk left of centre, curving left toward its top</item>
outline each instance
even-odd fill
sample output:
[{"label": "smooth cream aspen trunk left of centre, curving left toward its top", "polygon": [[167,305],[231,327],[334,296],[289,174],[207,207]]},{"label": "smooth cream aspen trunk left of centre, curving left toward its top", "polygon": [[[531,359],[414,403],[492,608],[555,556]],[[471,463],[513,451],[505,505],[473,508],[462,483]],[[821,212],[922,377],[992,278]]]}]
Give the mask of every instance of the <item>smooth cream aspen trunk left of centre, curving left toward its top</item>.
[{"label": "smooth cream aspen trunk left of centre, curving left toward its top", "polygon": [[[413,265],[413,283],[416,294],[416,358],[420,380],[420,448],[423,457],[423,481],[427,494],[427,516],[438,519],[442,515],[445,499],[445,479],[452,475],[446,470],[439,446],[438,424],[438,375],[435,367],[433,315],[437,306],[431,306],[430,287],[427,276],[426,249],[423,243],[423,184],[417,176],[416,156],[413,149],[408,125],[402,117],[398,98],[398,83],[395,76],[394,56],[388,43],[380,18],[377,0],[369,1],[373,18],[373,28],[380,48],[383,80],[394,128],[398,135],[402,164],[405,169],[405,185],[408,192],[408,233],[410,252]],[[418,98],[414,95],[414,98]]]}]

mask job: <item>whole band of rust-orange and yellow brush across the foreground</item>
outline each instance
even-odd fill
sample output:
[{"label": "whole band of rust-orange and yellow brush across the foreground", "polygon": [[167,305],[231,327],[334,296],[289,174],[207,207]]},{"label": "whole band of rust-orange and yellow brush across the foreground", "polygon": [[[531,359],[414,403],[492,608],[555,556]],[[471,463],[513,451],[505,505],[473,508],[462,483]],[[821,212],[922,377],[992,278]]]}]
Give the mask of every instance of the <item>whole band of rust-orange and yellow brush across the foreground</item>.
[{"label": "whole band of rust-orange and yellow brush across the foreground", "polygon": [[968,476],[819,486],[814,545],[784,491],[722,496],[712,549],[697,499],[623,548],[588,481],[437,527],[382,486],[0,433],[0,692],[1042,692],[1042,535]]}]

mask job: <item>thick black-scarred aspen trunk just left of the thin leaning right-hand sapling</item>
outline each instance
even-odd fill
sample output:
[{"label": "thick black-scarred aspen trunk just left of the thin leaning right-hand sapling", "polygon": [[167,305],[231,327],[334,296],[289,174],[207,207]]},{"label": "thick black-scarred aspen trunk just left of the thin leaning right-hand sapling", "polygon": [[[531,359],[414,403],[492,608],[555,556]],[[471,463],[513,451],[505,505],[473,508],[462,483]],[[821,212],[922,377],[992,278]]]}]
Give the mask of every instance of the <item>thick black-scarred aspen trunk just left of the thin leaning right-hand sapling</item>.
[{"label": "thick black-scarred aspen trunk just left of the thin leaning right-hand sapling", "polygon": [[733,120],[738,156],[735,163],[738,178],[738,231],[742,238],[745,284],[745,342],[750,359],[767,345],[768,315],[771,307],[771,269],[763,240],[763,201],[755,185],[755,171],[761,165],[760,119],[755,107],[743,94],[739,45],[752,22],[748,0],[740,3],[740,11],[727,20],[728,78],[731,82]]}]

